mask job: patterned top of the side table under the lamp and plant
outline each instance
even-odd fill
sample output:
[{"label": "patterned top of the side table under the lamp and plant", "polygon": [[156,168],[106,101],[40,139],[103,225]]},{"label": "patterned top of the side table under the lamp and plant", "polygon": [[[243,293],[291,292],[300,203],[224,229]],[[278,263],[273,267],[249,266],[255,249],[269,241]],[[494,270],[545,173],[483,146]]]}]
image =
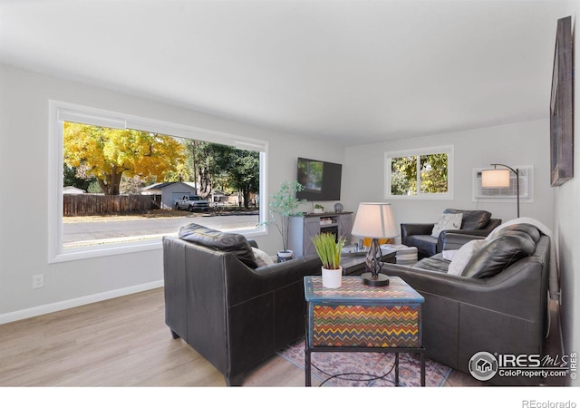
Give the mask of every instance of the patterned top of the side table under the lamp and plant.
[{"label": "patterned top of the side table under the lamp and plant", "polygon": [[343,305],[423,303],[425,298],[401,277],[389,277],[388,287],[369,287],[361,277],[343,277],[343,286],[323,287],[322,277],[304,277],[304,296],[312,303],[340,303]]}]

